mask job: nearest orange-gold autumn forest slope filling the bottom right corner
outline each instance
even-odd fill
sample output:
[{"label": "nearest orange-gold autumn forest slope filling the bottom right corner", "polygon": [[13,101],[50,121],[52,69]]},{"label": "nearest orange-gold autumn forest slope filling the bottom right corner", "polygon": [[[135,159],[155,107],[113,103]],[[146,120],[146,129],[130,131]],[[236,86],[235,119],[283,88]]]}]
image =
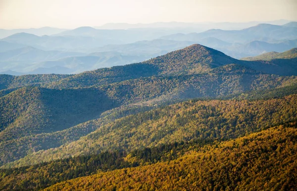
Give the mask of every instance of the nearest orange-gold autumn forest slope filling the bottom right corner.
[{"label": "nearest orange-gold autumn forest slope filling the bottom right corner", "polygon": [[297,187],[297,129],[281,126],[206,145],[173,161],[62,182],[45,191],[283,190]]}]

